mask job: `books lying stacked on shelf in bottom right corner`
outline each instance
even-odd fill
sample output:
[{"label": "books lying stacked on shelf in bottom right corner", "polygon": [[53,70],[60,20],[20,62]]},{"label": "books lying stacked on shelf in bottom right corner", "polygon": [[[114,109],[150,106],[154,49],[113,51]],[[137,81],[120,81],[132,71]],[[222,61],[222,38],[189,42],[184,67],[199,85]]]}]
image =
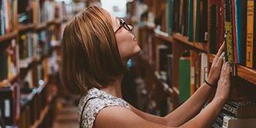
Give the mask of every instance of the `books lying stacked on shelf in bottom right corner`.
[{"label": "books lying stacked on shelf in bottom right corner", "polygon": [[214,128],[256,127],[256,103],[250,100],[227,102],[214,121]]}]

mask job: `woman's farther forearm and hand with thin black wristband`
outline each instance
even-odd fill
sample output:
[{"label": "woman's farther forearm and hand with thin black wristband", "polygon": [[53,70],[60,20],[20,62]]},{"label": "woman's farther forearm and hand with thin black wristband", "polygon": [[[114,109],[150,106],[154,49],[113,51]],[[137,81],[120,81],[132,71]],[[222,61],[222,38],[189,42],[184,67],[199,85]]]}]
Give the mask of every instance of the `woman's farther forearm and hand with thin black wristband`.
[{"label": "woman's farther forearm and hand with thin black wristband", "polygon": [[[225,43],[223,43],[221,48],[219,48],[217,56],[213,60],[207,79],[208,83],[210,83],[211,85],[216,85],[216,87],[222,69],[222,53],[225,48],[224,44]],[[213,91],[213,87],[207,85],[206,83],[203,83],[203,85],[201,85],[200,88],[195,91],[195,94],[189,97],[189,99],[187,99],[184,104],[182,104],[169,115],[165,116],[165,118],[167,119],[167,124],[178,127],[196,116],[197,113],[199,113],[203,106],[206,104],[209,96]],[[176,118],[179,118],[178,121],[176,120]]]}]

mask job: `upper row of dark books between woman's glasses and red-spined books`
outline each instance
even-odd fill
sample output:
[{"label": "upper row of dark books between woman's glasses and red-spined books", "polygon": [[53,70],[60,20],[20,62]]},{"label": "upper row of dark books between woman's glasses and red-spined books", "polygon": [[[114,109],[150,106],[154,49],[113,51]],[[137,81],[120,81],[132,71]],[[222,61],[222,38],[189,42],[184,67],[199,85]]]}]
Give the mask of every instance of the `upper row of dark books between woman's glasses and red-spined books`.
[{"label": "upper row of dark books between woman's glasses and red-spined books", "polygon": [[188,37],[189,42],[206,42],[208,1],[148,0],[144,2],[153,8],[152,12],[148,13],[150,15],[153,13],[153,16],[148,15],[148,20],[159,26],[161,31],[169,35],[178,32]]}]

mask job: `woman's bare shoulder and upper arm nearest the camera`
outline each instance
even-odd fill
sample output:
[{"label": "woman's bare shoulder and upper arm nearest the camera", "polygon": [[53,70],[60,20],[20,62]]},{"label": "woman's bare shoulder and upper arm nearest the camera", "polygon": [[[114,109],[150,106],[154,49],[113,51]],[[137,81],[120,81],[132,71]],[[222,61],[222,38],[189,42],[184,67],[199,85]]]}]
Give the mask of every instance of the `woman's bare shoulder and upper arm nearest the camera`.
[{"label": "woman's bare shoulder and upper arm nearest the camera", "polygon": [[170,128],[161,124],[146,121],[132,111],[118,106],[100,110],[94,122],[94,128]]}]

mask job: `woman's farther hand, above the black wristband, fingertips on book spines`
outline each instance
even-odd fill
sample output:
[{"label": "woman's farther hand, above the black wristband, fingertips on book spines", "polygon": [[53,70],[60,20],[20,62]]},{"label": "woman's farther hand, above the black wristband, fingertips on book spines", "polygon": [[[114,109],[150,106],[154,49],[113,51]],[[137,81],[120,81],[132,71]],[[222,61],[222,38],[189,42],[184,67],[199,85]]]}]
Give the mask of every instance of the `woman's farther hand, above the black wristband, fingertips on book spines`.
[{"label": "woman's farther hand, above the black wristband, fingertips on book spines", "polygon": [[225,42],[222,43],[222,46],[219,48],[217,55],[215,56],[212,64],[211,69],[207,78],[207,82],[211,85],[216,85],[217,81],[219,80],[219,75],[222,69],[223,63],[223,55],[225,49]]}]

